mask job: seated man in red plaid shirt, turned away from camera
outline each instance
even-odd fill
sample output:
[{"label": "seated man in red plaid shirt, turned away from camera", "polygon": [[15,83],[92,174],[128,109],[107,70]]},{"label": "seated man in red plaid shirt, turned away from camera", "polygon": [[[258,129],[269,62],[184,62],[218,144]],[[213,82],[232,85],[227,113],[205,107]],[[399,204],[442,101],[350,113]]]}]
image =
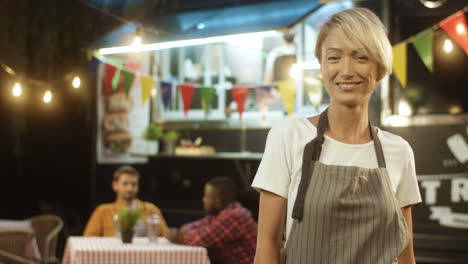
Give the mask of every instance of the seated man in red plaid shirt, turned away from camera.
[{"label": "seated man in red plaid shirt, turned away from camera", "polygon": [[231,179],[218,177],[208,181],[203,196],[208,216],[183,225],[175,242],[206,247],[213,264],[252,263],[257,223],[236,197],[236,186]]}]

